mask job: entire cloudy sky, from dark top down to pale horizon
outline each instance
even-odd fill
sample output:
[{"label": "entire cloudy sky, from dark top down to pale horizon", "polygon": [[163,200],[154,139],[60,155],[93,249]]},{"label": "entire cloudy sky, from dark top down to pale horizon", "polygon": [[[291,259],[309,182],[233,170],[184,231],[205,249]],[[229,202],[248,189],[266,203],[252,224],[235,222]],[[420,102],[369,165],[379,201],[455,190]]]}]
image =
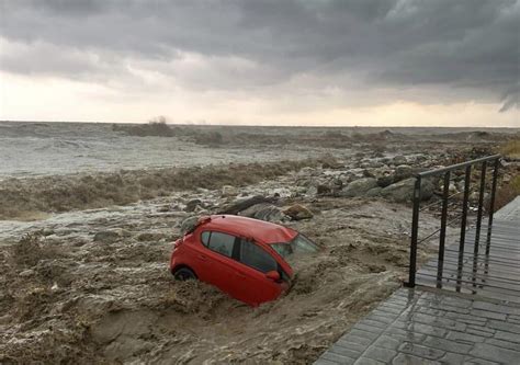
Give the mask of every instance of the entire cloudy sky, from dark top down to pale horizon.
[{"label": "entire cloudy sky, from dark top down to pale horizon", "polygon": [[520,127],[520,0],[0,0],[0,119]]}]

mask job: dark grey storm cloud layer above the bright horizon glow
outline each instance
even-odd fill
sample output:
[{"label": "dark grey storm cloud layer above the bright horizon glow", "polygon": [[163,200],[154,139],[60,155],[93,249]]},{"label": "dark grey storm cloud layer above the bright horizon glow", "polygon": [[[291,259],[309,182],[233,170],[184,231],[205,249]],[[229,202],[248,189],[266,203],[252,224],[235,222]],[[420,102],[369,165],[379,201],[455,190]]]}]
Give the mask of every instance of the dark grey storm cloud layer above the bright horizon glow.
[{"label": "dark grey storm cloud layer above the bright horizon glow", "polygon": [[[520,1],[0,1],[2,37],[29,44],[23,60],[2,53],[11,72],[72,77],[117,73],[118,65],[124,73],[122,59],[138,59],[168,75],[188,52],[221,66],[228,58],[256,65],[238,73],[224,67],[208,88],[312,75],[348,89],[349,75],[368,89],[461,88],[460,100],[518,106]],[[45,50],[53,46],[63,57]]]}]

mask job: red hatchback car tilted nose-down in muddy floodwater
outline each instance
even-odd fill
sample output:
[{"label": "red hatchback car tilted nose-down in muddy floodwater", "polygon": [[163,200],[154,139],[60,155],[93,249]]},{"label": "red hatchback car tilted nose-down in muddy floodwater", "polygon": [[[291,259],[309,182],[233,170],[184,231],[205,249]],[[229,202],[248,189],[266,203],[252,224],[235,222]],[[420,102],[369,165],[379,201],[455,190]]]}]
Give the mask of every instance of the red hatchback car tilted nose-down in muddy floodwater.
[{"label": "red hatchback car tilted nose-down in muddy floodwater", "polygon": [[199,278],[251,306],[274,300],[290,287],[284,260],[317,246],[294,229],[233,215],[199,219],[174,242],[170,271],[177,280]]}]

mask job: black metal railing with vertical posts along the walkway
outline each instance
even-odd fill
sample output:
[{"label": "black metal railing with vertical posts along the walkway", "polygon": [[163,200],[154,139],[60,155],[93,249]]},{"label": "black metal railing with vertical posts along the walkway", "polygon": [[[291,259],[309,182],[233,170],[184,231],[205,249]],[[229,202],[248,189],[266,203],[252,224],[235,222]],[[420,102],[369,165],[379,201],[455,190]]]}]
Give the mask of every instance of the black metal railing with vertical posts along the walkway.
[{"label": "black metal railing with vertical posts along the walkway", "polygon": [[[461,219],[460,224],[460,240],[459,240],[459,265],[462,264],[462,260],[464,258],[464,243],[466,239],[466,227],[467,227],[467,214],[468,214],[468,202],[470,202],[470,187],[471,187],[471,175],[472,175],[472,167],[475,164],[481,164],[481,181],[478,186],[478,207],[477,207],[477,216],[476,216],[476,232],[475,232],[475,244],[474,244],[474,254],[475,256],[478,255],[478,248],[479,248],[479,240],[481,240],[481,227],[484,214],[484,195],[485,195],[485,187],[486,187],[486,171],[488,164],[493,164],[493,182],[491,182],[491,192],[489,196],[489,220],[488,220],[488,229],[487,229],[487,244],[486,244],[486,255],[489,254],[489,242],[491,237],[491,226],[493,226],[493,213],[495,209],[495,195],[497,190],[497,178],[498,178],[498,169],[500,164],[500,155],[488,156],[484,158],[479,158],[476,160],[452,164],[442,169],[438,170],[430,170],[418,173],[416,176],[416,183],[414,186],[414,195],[412,195],[412,203],[414,203],[414,213],[411,218],[411,241],[410,241],[410,265],[409,265],[409,273],[408,273],[408,282],[405,283],[407,287],[414,287],[416,285],[416,271],[417,271],[417,247],[418,244],[425,242],[426,240],[432,238],[437,233],[439,233],[439,258],[438,258],[438,266],[437,266],[437,286],[442,286],[442,274],[444,269],[444,253],[445,253],[445,243],[446,243],[446,227]],[[455,170],[464,169],[464,189],[460,193],[455,193],[450,195],[450,182],[451,182],[451,173]],[[439,202],[434,202],[429,204],[425,207],[420,207],[421,202],[421,185],[425,179],[427,178],[434,178],[443,175],[443,187],[442,187],[442,198]],[[448,207],[450,198],[463,194],[462,201],[462,212],[459,214],[454,219],[448,220]],[[442,204],[441,207],[441,226],[439,229],[433,231],[432,233],[428,235],[425,238],[419,240],[419,214],[421,210],[431,208],[432,206],[438,205],[439,203]]]}]

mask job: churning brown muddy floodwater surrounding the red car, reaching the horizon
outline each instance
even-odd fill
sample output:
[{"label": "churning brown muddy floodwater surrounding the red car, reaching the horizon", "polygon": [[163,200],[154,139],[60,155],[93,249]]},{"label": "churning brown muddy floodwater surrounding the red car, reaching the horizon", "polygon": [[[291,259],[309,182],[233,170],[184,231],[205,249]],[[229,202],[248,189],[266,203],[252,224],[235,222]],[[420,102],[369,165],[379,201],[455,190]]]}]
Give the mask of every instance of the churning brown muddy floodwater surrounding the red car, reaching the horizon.
[{"label": "churning brown muddy floodwater surrounding the red car, reaching the horizon", "polygon": [[[412,174],[518,136],[183,126],[165,137],[52,123],[0,130],[1,364],[312,363],[403,284]],[[438,192],[432,181],[428,198]],[[251,308],[171,277],[182,223],[231,210],[320,247],[291,258],[295,276],[279,300]],[[436,210],[425,212],[421,229],[438,224]],[[432,254],[425,244],[419,262]]]}]

